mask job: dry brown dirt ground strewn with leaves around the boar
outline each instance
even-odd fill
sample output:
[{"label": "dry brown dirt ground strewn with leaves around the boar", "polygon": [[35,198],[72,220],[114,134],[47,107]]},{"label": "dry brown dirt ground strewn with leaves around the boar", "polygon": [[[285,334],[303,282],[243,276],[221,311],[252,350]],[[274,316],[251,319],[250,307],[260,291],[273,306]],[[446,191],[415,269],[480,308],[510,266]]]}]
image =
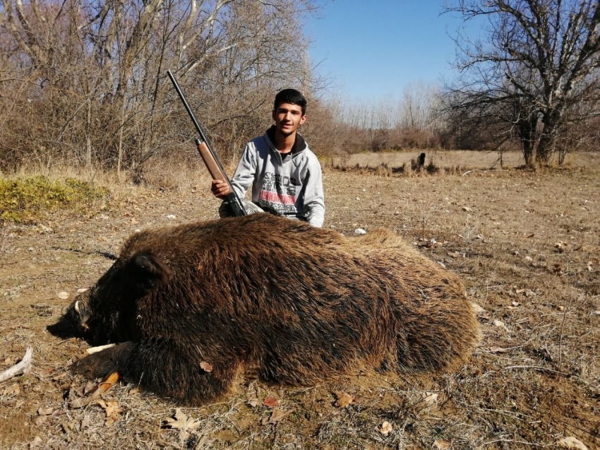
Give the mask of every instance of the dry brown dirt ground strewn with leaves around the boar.
[{"label": "dry brown dirt ground strewn with leaves around the boar", "polygon": [[166,425],[174,403],[132,385],[72,408],[89,386],[66,367],[88,345],[46,326],[112,264],[99,251],[117,254],[136,229],[216,218],[198,179],[189,189],[121,187],[88,215],[0,229],[0,372],[33,351],[32,372],[0,384],[0,449],[529,449],[565,438],[600,448],[597,167],[325,171],[325,227],[389,227],[462,277],[484,338],[459,372],[242,381],[220,402],[181,408],[187,430]]}]

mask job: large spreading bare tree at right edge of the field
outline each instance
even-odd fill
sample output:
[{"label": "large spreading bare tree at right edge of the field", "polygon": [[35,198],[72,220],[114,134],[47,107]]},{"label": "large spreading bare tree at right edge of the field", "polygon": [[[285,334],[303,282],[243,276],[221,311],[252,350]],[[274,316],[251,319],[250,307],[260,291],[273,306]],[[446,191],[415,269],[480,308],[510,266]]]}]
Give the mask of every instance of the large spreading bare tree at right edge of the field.
[{"label": "large spreading bare tree at right edge of the field", "polygon": [[446,90],[450,117],[463,130],[493,130],[496,146],[519,141],[529,166],[568,151],[575,125],[600,112],[599,3],[459,0],[446,8],[488,20],[483,41],[457,37],[461,75]]}]

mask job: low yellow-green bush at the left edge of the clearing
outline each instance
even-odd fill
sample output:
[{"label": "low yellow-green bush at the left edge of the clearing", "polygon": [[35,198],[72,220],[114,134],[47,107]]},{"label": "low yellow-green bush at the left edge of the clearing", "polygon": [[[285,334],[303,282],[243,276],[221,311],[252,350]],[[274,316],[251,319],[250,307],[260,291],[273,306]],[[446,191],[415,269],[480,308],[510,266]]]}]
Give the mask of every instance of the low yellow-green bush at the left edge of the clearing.
[{"label": "low yellow-green bush at the left edge of the clearing", "polygon": [[74,178],[56,181],[42,176],[0,179],[0,220],[32,223],[45,211],[80,210],[108,194],[108,189]]}]

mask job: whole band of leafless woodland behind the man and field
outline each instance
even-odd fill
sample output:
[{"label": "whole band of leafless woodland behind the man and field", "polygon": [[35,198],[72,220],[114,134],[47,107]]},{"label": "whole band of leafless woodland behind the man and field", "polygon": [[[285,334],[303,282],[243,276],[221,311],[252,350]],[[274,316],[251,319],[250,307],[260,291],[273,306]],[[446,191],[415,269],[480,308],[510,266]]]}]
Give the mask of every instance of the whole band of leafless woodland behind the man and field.
[{"label": "whole band of leafless woodland behind the man and field", "polygon": [[322,158],[402,149],[520,150],[562,164],[600,136],[599,6],[591,1],[454,1],[486,18],[455,37],[456,78],[400,100],[351,102],[308,56],[314,0],[4,0],[0,6],[0,170],[116,171],[196,158],[172,70],[224,162],[271,123],[273,95],[302,90],[302,129]]}]

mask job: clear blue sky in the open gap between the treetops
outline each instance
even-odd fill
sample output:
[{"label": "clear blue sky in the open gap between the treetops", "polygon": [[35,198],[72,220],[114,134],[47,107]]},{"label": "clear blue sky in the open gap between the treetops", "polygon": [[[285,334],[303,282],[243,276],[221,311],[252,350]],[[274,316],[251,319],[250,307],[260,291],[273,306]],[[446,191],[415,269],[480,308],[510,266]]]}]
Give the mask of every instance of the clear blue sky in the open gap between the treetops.
[{"label": "clear blue sky in the open gap between the treetops", "polygon": [[[357,100],[400,97],[406,85],[452,78],[462,20],[435,0],[334,0],[310,18],[306,34],[318,72]],[[472,27],[474,28],[474,27]],[[471,31],[472,34],[472,31]]]}]

